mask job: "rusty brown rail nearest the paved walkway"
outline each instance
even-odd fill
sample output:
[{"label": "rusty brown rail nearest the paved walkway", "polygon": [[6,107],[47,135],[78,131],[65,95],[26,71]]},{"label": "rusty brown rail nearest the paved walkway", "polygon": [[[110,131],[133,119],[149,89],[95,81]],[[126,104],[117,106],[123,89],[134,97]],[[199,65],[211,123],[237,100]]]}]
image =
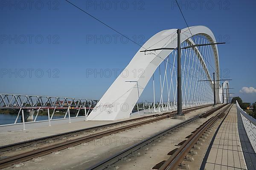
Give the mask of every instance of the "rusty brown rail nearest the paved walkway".
[{"label": "rusty brown rail nearest the paved walkway", "polygon": [[213,122],[215,122],[219,118],[221,114],[224,114],[224,112],[228,109],[230,111],[231,107],[232,105],[230,107],[227,106],[216,116],[208,119],[201,127],[198,128],[198,130],[195,131],[195,133],[192,134],[192,136],[189,137],[189,139],[186,140],[186,142],[184,142],[175,151],[175,153],[172,154],[172,156],[169,157],[168,160],[164,162],[159,170],[176,170],[179,164],[183,161],[183,158],[188,154],[189,150],[191,150],[195,142],[204,134],[204,132],[213,124]]}]

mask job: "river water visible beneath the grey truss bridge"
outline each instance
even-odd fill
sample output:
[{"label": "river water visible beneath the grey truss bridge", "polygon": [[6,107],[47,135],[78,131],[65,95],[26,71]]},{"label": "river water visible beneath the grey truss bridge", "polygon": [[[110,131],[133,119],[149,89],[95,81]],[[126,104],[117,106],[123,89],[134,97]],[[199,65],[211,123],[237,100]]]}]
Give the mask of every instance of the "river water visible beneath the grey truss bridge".
[{"label": "river water visible beneath the grey truss bridge", "polygon": [[[15,114],[0,114],[0,125],[6,125],[6,124],[12,124],[15,122],[17,115]],[[35,118],[35,115],[34,115]],[[60,118],[64,118],[64,116],[53,116],[52,119],[60,119]],[[38,117],[36,118],[36,120],[47,120],[48,119],[48,115],[38,115]],[[21,122],[21,115],[19,116],[17,123]]]}]

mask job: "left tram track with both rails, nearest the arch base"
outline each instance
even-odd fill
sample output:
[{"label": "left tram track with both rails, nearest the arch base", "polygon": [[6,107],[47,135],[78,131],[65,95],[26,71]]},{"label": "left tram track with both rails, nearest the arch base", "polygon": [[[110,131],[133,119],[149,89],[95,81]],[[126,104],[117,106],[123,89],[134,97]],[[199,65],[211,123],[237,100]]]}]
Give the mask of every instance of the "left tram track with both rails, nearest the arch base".
[{"label": "left tram track with both rails, nearest the arch base", "polygon": [[[184,109],[183,112],[188,113],[188,112],[195,111],[195,110],[198,110],[198,109],[201,109],[201,108],[206,108],[206,107],[209,107],[209,105]],[[20,163],[20,162],[23,162],[23,161],[28,161],[32,158],[36,158],[36,157],[39,157],[39,156],[44,156],[44,155],[47,155],[47,154],[55,152],[55,151],[63,150],[63,149],[66,149],[68,147],[71,147],[71,146],[76,146],[76,145],[82,144],[84,142],[89,142],[89,141],[92,141],[94,139],[99,139],[103,136],[108,136],[108,135],[111,135],[111,134],[114,134],[114,133],[118,133],[118,132],[121,132],[121,131],[124,131],[124,130],[131,129],[133,127],[138,127],[138,126],[145,125],[145,124],[148,124],[148,123],[151,123],[151,122],[156,122],[156,121],[159,121],[159,120],[162,120],[162,119],[166,119],[170,116],[175,115],[176,113],[177,113],[176,111],[173,111],[173,112],[163,113],[163,114],[154,114],[152,116],[147,116],[147,117],[143,117],[143,118],[136,118],[136,119],[130,119],[130,120],[125,120],[125,121],[121,121],[121,122],[114,122],[114,123],[107,124],[107,125],[76,130],[76,131],[72,131],[72,132],[68,132],[68,133],[61,133],[61,134],[58,134],[58,135],[48,136],[48,137],[39,138],[39,139],[33,139],[31,141],[20,142],[20,143],[17,143],[17,144],[6,145],[6,146],[3,146],[3,147],[0,147],[0,152],[6,152],[6,151],[9,151],[9,150],[12,150],[13,148],[29,147],[29,146],[31,146],[33,144],[36,144],[36,143],[46,142],[47,140],[53,140],[53,139],[60,139],[61,140],[64,136],[72,136],[72,135],[75,135],[75,134],[77,135],[78,133],[85,133],[85,132],[88,132],[88,131],[91,131],[91,130],[98,130],[98,129],[102,129],[102,128],[105,128],[105,127],[112,127],[114,125],[122,125],[122,124],[125,124],[127,122],[134,122],[134,121],[137,121],[137,120],[142,120],[141,122],[135,122],[131,125],[123,125],[121,127],[116,127],[116,128],[113,128],[113,129],[108,129],[108,130],[102,131],[102,132],[93,133],[91,135],[78,137],[76,139],[67,140],[67,141],[64,141],[64,142],[59,142],[57,144],[52,144],[51,146],[41,147],[41,148],[38,148],[38,149],[18,153],[18,154],[15,154],[13,156],[4,157],[4,158],[0,159],[0,169],[12,166],[13,164],[17,164],[17,163]],[[148,119],[148,118],[151,118],[151,119]]]}]

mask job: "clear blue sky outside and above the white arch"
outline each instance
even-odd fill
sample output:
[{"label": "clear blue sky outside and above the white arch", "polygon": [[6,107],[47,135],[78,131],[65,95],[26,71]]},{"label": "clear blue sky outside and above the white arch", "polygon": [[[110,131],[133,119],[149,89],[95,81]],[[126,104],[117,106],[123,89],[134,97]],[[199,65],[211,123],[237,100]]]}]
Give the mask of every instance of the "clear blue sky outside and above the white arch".
[{"label": "clear blue sky outside and above the white arch", "polygon": [[[70,2],[141,45],[161,30],[186,27],[173,0]],[[178,2],[189,26],[207,26],[229,42],[218,46],[221,71],[233,79],[234,96],[256,102],[256,92],[239,92],[256,88],[256,2]],[[86,72],[119,74],[140,48],[65,0],[1,0],[0,23],[1,93],[100,99],[116,77]]]}]

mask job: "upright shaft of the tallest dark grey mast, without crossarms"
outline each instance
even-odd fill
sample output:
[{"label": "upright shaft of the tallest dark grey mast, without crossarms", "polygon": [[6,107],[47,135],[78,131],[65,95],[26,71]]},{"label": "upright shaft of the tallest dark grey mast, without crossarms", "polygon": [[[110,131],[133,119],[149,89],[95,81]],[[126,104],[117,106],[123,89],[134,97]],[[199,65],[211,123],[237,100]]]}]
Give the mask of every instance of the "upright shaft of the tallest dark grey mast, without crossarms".
[{"label": "upright shaft of the tallest dark grey mast, without crossarms", "polygon": [[177,115],[182,114],[182,94],[181,94],[181,48],[180,48],[180,29],[177,30]]}]

